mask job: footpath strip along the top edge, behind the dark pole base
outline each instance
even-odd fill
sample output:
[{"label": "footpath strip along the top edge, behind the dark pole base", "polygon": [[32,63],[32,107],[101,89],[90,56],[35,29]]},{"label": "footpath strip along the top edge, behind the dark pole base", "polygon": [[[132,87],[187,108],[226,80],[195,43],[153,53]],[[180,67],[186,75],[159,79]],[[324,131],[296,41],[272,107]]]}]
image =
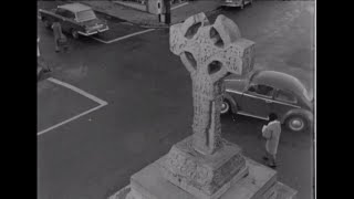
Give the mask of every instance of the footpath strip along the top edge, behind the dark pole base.
[{"label": "footpath strip along the top edge, behind the dark pole base", "polygon": [[[168,28],[165,23],[158,22],[158,15],[140,11],[131,7],[119,4],[115,1],[80,1],[81,3],[92,7],[97,12],[104,12],[112,18],[137,24],[144,28]],[[188,3],[171,8],[171,24],[181,22],[188,17],[199,12],[208,14],[219,9],[218,1],[194,0]]]}]

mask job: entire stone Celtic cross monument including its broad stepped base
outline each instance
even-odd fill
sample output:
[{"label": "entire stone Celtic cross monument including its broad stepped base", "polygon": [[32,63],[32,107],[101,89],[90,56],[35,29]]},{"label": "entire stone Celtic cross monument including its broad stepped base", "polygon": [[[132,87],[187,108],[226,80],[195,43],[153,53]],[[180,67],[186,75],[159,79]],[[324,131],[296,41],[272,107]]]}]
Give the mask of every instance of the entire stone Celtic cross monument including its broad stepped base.
[{"label": "entire stone Celtic cross monument including its broad stepped base", "polygon": [[226,17],[211,25],[204,13],[171,25],[169,39],[192,80],[192,135],[133,175],[126,199],[293,198],[295,191],[277,182],[277,171],[220,136],[223,77],[252,70],[254,43]]}]

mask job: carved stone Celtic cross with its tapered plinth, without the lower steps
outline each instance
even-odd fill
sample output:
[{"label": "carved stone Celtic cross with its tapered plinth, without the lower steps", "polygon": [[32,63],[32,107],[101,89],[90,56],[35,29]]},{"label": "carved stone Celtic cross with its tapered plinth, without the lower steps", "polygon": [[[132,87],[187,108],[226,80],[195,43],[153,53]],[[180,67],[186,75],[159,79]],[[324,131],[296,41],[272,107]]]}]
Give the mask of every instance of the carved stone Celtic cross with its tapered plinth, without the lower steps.
[{"label": "carved stone Celtic cross with its tapered plinth, without the lower steps", "polygon": [[223,77],[253,66],[252,41],[241,38],[231,20],[219,15],[211,25],[204,13],[170,28],[170,50],[192,80],[192,135],[176,144],[162,166],[171,184],[197,198],[218,198],[232,179],[248,172],[241,150],[221,138]]}]

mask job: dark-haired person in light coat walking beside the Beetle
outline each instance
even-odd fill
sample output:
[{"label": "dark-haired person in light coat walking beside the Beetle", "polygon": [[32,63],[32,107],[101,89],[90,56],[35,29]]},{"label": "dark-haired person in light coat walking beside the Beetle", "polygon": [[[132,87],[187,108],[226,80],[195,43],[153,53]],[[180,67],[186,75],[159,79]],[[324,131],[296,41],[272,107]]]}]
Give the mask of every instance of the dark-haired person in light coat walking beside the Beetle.
[{"label": "dark-haired person in light coat walking beside the Beetle", "polygon": [[275,114],[269,116],[269,124],[262,128],[262,136],[266,138],[266,156],[263,159],[269,167],[275,168],[275,156],[278,151],[279,138],[281,134],[281,124]]}]

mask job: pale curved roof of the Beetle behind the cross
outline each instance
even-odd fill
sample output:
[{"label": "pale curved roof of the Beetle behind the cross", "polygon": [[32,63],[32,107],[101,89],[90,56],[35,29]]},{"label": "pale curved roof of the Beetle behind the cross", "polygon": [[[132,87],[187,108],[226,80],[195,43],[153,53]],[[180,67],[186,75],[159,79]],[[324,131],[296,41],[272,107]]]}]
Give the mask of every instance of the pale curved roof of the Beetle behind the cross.
[{"label": "pale curved roof of the Beetle behind the cross", "polygon": [[264,84],[278,90],[292,92],[296,95],[308,95],[305,86],[294,76],[278,71],[257,71],[250,80],[252,83]]}]

